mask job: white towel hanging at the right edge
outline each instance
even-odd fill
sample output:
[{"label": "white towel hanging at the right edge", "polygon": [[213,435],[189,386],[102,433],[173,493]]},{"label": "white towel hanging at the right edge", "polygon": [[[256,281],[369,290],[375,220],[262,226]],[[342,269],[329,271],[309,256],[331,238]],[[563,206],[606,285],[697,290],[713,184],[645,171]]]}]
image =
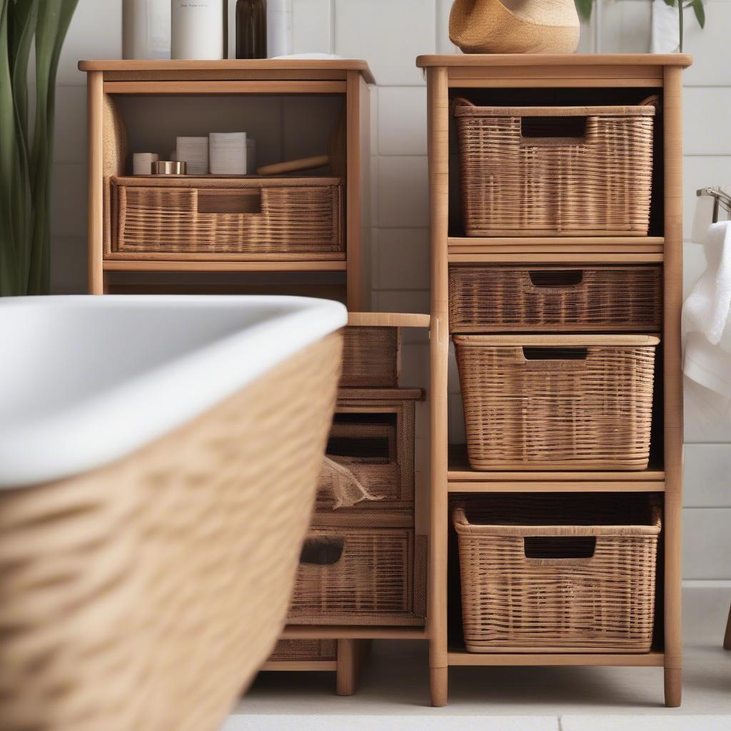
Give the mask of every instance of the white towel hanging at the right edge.
[{"label": "white towel hanging at the right edge", "polygon": [[718,393],[719,413],[731,415],[731,221],[711,224],[704,251],[705,271],[683,306],[684,370]]}]

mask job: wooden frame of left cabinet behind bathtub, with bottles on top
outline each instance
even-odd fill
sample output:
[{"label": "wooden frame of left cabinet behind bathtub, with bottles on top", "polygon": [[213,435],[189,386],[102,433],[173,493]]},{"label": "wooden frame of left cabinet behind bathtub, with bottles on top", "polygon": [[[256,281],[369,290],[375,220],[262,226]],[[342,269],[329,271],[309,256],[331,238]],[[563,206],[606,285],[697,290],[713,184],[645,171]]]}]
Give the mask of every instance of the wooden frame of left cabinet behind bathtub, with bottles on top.
[{"label": "wooden frame of left cabinet behind bathtub, with bottles on top", "polygon": [[[368,308],[364,287],[362,197],[368,191],[370,96],[366,61],[80,61],[88,86],[88,291],[108,291],[109,275],[126,273],[344,272],[344,300],[352,311]],[[105,96],[330,95],[346,110],[344,254],[140,254],[105,253]],[[335,124],[333,119],[331,124]],[[181,132],[186,133],[185,121]],[[108,142],[107,142],[108,144]],[[133,151],[129,151],[132,153]],[[215,291],[208,289],[207,291]],[[294,293],[296,288],[293,289]]]}]

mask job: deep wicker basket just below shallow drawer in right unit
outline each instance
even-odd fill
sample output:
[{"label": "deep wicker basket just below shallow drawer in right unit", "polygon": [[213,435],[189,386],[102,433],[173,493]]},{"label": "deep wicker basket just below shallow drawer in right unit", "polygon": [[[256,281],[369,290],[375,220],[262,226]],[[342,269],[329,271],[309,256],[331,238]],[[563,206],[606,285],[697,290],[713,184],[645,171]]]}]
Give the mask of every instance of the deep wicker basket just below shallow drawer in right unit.
[{"label": "deep wicker basket just below shallow drawer in right unit", "polygon": [[455,336],[473,469],[645,469],[654,336]]}]

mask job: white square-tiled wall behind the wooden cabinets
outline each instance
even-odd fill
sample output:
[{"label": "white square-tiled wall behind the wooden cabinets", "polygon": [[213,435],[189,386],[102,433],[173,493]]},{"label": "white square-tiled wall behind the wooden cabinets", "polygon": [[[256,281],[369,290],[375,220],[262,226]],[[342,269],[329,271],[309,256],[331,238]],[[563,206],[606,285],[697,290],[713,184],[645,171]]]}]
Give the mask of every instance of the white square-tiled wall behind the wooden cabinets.
[{"label": "white square-tiled wall behind the wooden cabinets", "polygon": [[[649,0],[602,2],[601,46],[605,52],[649,48]],[[293,0],[295,52],[338,53],[366,58],[378,86],[371,91],[371,281],[374,308],[428,312],[428,195],[425,80],[414,58],[452,53],[447,33],[451,0]],[[232,7],[235,3],[231,3]],[[686,12],[686,50],[694,66],[685,73],[685,232],[692,227],[695,189],[731,184],[731,63],[727,29],[731,0],[709,0],[701,31]],[[80,0],[58,72],[58,115],[53,189],[53,285],[57,291],[84,287],[86,230],[86,111],[79,58],[118,58],[121,0]],[[594,50],[594,25],[583,25],[580,49]],[[232,36],[233,37],[233,28]],[[286,115],[285,115],[286,117]],[[253,123],[252,123],[253,124]],[[279,125],[279,122],[276,123]],[[290,125],[291,126],[291,125]],[[310,132],[308,132],[308,129]],[[271,130],[269,130],[271,132]],[[268,130],[262,129],[266,135]],[[276,126],[288,155],[309,154],[322,130]],[[167,135],[167,132],[165,133]],[[272,143],[273,144],[273,143]],[[279,148],[277,148],[279,151]],[[377,228],[376,228],[377,227]],[[702,270],[702,249],[686,243],[686,284]],[[404,376],[425,378],[423,333],[404,337]],[[458,379],[452,364],[450,431],[463,439]],[[686,393],[686,576],[731,578],[722,558],[731,549],[731,424],[708,416],[708,395]],[[420,439],[425,438],[423,425]]]}]

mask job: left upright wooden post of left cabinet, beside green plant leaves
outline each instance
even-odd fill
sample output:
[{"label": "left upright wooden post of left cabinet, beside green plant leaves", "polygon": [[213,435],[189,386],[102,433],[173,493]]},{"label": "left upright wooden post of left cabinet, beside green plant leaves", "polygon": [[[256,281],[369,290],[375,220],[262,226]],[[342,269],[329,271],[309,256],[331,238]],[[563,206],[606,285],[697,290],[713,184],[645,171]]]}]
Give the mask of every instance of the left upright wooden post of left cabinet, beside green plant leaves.
[{"label": "left upright wooden post of left cabinet, beside green plant leaves", "polygon": [[101,72],[87,78],[88,96],[88,291],[104,294],[104,91]]}]

